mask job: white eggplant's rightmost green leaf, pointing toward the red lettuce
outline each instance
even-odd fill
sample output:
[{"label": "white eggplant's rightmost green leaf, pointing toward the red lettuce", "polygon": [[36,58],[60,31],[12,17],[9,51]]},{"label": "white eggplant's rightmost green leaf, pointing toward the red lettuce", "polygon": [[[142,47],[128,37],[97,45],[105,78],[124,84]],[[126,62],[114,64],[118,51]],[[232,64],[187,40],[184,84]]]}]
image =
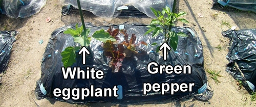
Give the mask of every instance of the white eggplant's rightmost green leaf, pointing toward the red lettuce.
[{"label": "white eggplant's rightmost green leaf, pointing toward the red lettuce", "polygon": [[112,37],[108,32],[105,32],[104,30],[99,30],[96,31],[93,36],[94,39],[102,41],[102,42],[106,42],[108,40],[115,42],[116,39],[114,37]]}]

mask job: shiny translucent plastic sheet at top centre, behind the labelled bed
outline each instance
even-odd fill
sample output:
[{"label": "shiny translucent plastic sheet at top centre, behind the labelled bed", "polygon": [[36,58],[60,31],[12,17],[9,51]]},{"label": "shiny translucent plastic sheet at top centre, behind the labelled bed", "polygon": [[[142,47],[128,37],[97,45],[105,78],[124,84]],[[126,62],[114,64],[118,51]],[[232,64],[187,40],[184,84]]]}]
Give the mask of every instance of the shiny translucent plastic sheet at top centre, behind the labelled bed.
[{"label": "shiny translucent plastic sheet at top centre, behind the labelled bed", "polygon": [[[71,4],[73,7],[78,9],[76,0],[61,0],[60,3],[63,6]],[[141,16],[141,13],[146,14],[148,17],[156,18],[150,7],[162,11],[162,8],[168,6],[170,10],[173,9],[174,0],[80,0],[81,9],[92,12],[94,15],[99,17],[113,17],[119,16],[122,11],[122,16]],[[128,10],[117,10],[118,7],[128,6]],[[135,9],[136,8],[136,9]],[[136,11],[139,10],[140,12]]]}]

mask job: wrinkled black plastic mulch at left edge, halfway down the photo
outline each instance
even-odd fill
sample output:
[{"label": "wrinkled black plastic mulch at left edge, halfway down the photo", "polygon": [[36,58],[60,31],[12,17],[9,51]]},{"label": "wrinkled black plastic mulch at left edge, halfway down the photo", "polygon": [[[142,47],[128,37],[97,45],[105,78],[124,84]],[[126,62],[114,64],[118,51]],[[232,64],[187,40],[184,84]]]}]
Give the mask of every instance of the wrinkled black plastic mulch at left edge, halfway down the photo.
[{"label": "wrinkled black plastic mulch at left edge, halfway down the photo", "polygon": [[0,73],[4,72],[8,66],[12,44],[15,41],[16,31],[0,31]]}]

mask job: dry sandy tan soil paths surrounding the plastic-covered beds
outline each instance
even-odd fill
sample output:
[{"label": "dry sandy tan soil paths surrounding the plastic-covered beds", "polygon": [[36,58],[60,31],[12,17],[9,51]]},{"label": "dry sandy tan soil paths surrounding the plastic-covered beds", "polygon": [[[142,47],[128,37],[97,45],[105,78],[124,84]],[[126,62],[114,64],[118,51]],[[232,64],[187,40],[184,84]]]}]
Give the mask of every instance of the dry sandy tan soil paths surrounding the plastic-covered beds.
[{"label": "dry sandy tan soil paths surrounding the plastic-covered beds", "polygon": [[[256,28],[256,14],[230,8],[212,7],[211,0],[181,0],[178,1],[178,11],[188,13],[186,18],[188,25],[195,28],[204,50],[205,69],[221,71],[218,77],[220,83],[216,84],[213,79],[208,78],[209,85],[214,91],[214,96],[209,102],[188,100],[182,102],[171,102],[169,100],[141,102],[127,106],[255,106],[250,101],[250,95],[243,88],[240,90],[236,81],[225,71],[226,55],[229,40],[221,35],[223,30],[230,26],[238,26],[238,29]],[[80,22],[78,14],[61,16],[61,5],[58,1],[48,0],[47,4],[38,14],[26,19],[12,19],[1,15],[1,31],[16,30],[19,34],[17,41],[13,44],[11,60],[5,74],[2,75],[0,86],[1,106],[123,106],[112,103],[90,103],[86,105],[69,104],[60,101],[49,101],[47,99],[37,100],[34,95],[36,81],[40,78],[40,64],[42,54],[51,36],[51,33],[61,26]],[[203,17],[199,17],[198,14]],[[46,18],[51,17],[51,22]],[[106,19],[84,14],[87,22],[96,25],[118,24],[125,21],[150,23],[148,18],[116,18]],[[182,25],[182,23],[178,23]],[[39,44],[39,40],[44,43]],[[219,48],[216,48],[219,47]],[[209,74],[207,73],[209,77]],[[125,105],[126,106],[126,105]]]}]

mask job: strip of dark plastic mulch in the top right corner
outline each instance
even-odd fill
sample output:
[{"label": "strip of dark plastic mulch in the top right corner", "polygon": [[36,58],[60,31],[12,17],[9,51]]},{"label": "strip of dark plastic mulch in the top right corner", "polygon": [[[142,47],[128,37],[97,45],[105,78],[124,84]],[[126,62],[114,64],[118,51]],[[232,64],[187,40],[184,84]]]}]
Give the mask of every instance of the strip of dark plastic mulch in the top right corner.
[{"label": "strip of dark plastic mulch in the top right corner", "polygon": [[[217,0],[214,0],[217,1]],[[222,6],[228,6],[243,11],[256,12],[256,1],[255,0],[218,0],[218,3]]]}]

